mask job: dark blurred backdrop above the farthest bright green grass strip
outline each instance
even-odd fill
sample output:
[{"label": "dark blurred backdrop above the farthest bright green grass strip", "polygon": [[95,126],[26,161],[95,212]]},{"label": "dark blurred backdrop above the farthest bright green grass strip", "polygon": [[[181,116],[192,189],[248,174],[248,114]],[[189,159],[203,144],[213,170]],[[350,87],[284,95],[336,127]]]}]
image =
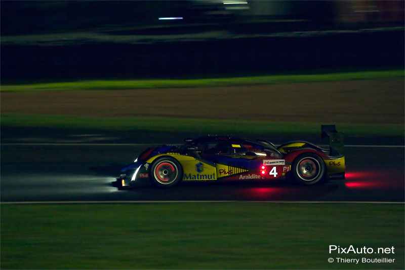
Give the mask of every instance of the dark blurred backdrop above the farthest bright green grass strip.
[{"label": "dark blurred backdrop above the farthest bright green grass strip", "polygon": [[403,1],[2,1],[2,82],[403,66]]}]

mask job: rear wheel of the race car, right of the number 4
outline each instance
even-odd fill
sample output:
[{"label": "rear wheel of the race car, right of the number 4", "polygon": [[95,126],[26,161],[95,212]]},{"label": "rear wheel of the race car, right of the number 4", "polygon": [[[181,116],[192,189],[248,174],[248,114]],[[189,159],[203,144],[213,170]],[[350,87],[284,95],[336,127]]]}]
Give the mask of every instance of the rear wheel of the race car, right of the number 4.
[{"label": "rear wheel of the race car, right of the number 4", "polygon": [[325,177],[325,162],[314,153],[303,153],[294,160],[291,173],[298,183],[312,185]]}]

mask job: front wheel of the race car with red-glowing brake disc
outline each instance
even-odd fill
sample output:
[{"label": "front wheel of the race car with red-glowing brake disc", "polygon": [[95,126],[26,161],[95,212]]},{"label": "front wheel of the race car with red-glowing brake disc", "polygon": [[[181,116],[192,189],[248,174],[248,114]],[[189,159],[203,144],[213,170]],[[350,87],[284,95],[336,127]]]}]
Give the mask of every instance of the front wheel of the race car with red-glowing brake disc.
[{"label": "front wheel of the race car with red-glowing brake disc", "polygon": [[156,159],[150,166],[150,182],[157,187],[171,187],[183,179],[183,169],[180,163],[171,157]]}]

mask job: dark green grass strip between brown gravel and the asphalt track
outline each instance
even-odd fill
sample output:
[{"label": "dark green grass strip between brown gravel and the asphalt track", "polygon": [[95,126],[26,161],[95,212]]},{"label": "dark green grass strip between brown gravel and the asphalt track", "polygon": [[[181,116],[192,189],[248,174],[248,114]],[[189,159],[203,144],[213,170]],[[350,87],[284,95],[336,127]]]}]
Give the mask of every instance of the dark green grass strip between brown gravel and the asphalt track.
[{"label": "dark green grass strip between brown gravel and the asphalt track", "polygon": [[268,122],[158,117],[78,117],[2,114],[2,126],[201,134],[319,134],[321,124],[337,124],[347,136],[403,136],[401,124]]}]

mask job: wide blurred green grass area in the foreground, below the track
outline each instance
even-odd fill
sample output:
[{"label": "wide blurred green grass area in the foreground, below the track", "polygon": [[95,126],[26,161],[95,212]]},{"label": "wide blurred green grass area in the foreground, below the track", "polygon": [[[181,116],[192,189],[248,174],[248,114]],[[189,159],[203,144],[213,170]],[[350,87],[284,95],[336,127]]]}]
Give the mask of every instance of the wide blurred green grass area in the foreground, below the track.
[{"label": "wide blurred green grass area in the foreground, below the track", "polygon": [[[274,187],[246,192],[280,192]],[[4,269],[402,269],[403,204],[1,205]],[[393,247],[392,254],[329,253]],[[392,263],[338,263],[336,258]],[[334,258],[335,262],[328,262]]]}]

